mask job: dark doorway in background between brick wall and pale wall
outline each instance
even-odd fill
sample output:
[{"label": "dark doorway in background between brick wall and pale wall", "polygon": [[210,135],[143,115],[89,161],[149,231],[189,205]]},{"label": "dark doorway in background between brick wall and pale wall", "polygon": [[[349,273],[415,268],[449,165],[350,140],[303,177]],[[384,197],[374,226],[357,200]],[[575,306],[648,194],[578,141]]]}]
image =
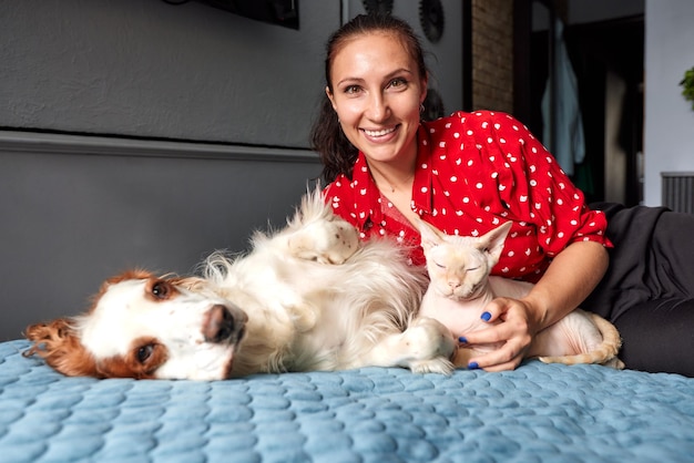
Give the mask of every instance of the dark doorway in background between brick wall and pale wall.
[{"label": "dark doorway in background between brick wall and pale wall", "polygon": [[643,14],[571,23],[565,2],[517,0],[516,3],[516,115],[552,151],[551,140],[543,137],[548,117],[542,114],[541,102],[552,81],[552,59],[558,44],[550,38],[554,19],[559,18],[564,21],[563,44],[578,82],[585,153],[568,171],[589,202],[640,204],[643,200]]}]

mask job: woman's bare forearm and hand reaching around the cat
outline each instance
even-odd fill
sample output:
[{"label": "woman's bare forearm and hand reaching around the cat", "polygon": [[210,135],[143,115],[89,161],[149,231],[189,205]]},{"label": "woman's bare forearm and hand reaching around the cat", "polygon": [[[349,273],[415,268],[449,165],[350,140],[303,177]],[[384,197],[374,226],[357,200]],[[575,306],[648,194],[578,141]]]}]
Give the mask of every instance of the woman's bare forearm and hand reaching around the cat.
[{"label": "woman's bare forearm and hand reaching around the cat", "polygon": [[559,253],[532,291],[520,300],[498,298],[487,306],[488,321],[502,322],[466,333],[468,346],[506,341],[487,354],[470,358],[470,368],[512,370],[523,360],[532,337],[579,306],[598,286],[608,269],[604,246],[576,241]]}]

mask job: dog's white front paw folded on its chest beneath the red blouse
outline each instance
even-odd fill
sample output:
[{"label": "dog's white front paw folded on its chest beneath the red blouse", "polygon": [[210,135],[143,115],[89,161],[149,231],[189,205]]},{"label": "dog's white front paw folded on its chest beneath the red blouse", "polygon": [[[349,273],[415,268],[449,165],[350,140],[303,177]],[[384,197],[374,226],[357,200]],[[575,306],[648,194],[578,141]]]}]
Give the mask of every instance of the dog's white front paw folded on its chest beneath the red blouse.
[{"label": "dog's white front paw folded on its chest beneath the red blouse", "polygon": [[343,264],[359,248],[359,233],[339,218],[317,220],[289,236],[288,246],[300,259]]}]

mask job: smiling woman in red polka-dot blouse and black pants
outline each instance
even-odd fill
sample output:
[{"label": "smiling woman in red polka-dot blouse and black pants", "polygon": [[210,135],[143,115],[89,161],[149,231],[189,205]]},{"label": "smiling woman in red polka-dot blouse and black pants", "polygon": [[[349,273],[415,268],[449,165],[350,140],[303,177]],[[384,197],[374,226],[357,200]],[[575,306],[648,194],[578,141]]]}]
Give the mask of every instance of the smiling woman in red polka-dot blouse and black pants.
[{"label": "smiling woman in red polka-dot blouse and black pants", "polygon": [[[630,239],[632,218],[656,229],[661,218],[672,216],[669,223],[687,220],[691,230],[694,218],[664,209],[611,206],[616,226],[611,223],[608,228],[608,214],[585,205],[551,154],[512,116],[458,112],[421,122],[428,80],[422,49],[411,28],[391,16],[360,16],[336,31],[327,44],[325,70],[326,99],[313,130],[314,148],[329,183],[327,200],[360,229],[363,239],[392,235],[404,244],[417,244],[412,225],[417,217],[460,235],[513,222],[493,272],[537,285],[523,299],[499,298],[488,306],[482,318],[502,322],[471,332],[465,341],[504,341],[504,346],[471,359],[469,368],[518,367],[534,333],[582,305],[621,330],[621,357],[627,368],[694,375],[694,360],[676,358],[694,347],[694,330],[688,329],[694,327],[691,245],[688,254],[680,256],[678,264],[690,267],[684,279],[662,285],[669,271],[654,270],[653,281],[644,281],[643,271],[632,269],[644,253],[653,254],[653,245],[647,234],[640,233],[643,239],[635,251],[629,251],[631,246],[615,248],[614,257],[624,260],[613,264],[601,284],[610,239],[618,245]],[[667,227],[662,229],[672,235]],[[667,261],[667,253],[677,249],[663,243],[657,259],[664,253]],[[422,264],[421,249],[414,249],[414,263]],[[637,289],[625,291],[624,282]],[[675,332],[662,321],[663,297],[677,300],[674,306],[666,302],[672,315],[677,313]],[[647,307],[642,308],[644,303]],[[656,321],[662,329],[654,329]],[[647,347],[653,331],[664,340]]]}]

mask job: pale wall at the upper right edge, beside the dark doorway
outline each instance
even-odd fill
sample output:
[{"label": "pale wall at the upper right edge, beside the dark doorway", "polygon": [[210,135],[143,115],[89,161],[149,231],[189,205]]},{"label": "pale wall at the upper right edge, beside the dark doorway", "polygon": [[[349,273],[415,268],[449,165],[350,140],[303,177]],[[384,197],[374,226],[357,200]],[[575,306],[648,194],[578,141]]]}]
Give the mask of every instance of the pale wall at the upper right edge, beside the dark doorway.
[{"label": "pale wall at the upper right edge, beside the dark doorway", "polygon": [[661,172],[694,172],[694,111],[678,85],[694,65],[694,1],[646,0],[644,203],[661,205]]}]

